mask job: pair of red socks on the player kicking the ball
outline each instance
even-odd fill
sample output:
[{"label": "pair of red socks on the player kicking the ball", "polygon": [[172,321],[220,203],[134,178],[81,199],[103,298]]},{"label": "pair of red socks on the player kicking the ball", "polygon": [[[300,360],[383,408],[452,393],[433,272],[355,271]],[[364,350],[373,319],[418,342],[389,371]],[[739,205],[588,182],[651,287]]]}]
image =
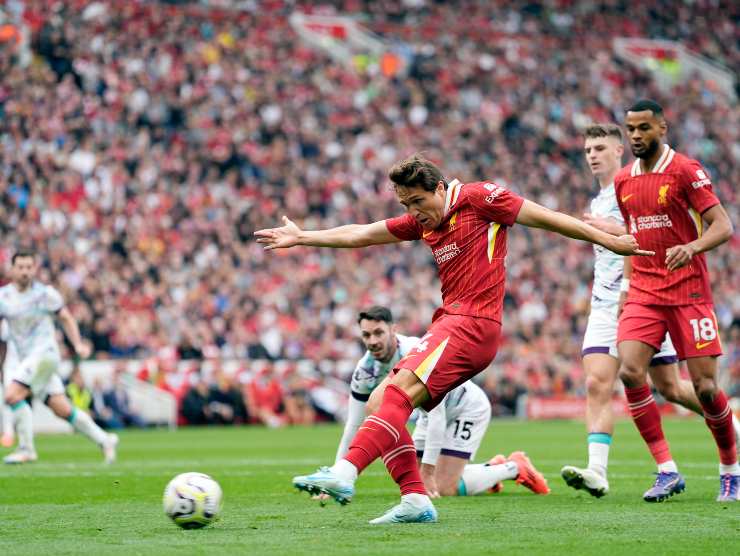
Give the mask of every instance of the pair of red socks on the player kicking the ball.
[{"label": "pair of red socks on the player kicking the ball", "polygon": [[403,390],[393,384],[387,386],[380,409],[365,419],[344,459],[361,473],[383,455],[383,462],[401,487],[401,494],[426,494],[416,464],[416,450],[406,429],[413,410],[411,398]]}]

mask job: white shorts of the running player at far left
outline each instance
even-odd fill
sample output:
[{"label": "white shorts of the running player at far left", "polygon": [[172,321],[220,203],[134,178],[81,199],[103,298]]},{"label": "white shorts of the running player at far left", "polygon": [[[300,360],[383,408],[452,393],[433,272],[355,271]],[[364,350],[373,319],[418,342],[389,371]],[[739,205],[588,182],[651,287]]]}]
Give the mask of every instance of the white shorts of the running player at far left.
[{"label": "white shorts of the running player at far left", "polygon": [[59,351],[51,346],[20,360],[14,349],[8,349],[3,364],[3,385],[7,389],[11,382],[18,382],[30,388],[34,397],[41,401],[48,396],[64,394],[64,383],[57,374],[60,363]]}]

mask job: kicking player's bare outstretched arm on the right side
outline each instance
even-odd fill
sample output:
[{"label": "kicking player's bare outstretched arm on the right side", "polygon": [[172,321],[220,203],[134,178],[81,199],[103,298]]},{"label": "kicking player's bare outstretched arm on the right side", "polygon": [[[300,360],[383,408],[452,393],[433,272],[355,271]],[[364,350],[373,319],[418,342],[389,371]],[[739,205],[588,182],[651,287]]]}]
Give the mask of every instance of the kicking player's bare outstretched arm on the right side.
[{"label": "kicking player's bare outstretched arm on the right side", "polygon": [[577,218],[555,212],[526,199],[516,221],[531,228],[542,228],[573,239],[597,243],[619,255],[655,255],[654,251],[640,249],[637,240],[631,235],[617,237],[607,234]]}]

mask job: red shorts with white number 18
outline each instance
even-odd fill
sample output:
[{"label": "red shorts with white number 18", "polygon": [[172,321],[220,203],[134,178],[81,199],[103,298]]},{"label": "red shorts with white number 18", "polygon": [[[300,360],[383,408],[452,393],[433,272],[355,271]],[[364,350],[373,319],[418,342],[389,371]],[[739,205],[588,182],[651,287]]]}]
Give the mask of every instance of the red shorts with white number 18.
[{"label": "red shorts with white number 18", "polygon": [[660,350],[665,333],[678,358],[722,355],[714,307],[703,305],[642,305],[626,303],[619,316],[617,343],[637,340]]}]

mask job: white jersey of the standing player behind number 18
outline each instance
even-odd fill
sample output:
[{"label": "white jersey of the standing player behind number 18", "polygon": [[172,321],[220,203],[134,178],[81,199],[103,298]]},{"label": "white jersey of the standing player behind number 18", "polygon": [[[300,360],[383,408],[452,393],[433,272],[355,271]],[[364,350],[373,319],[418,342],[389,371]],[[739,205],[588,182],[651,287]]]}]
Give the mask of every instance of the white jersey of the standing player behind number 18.
[{"label": "white jersey of the standing player behind number 18", "polygon": [[[591,200],[591,214],[601,218],[613,218],[624,225],[613,183],[599,191],[599,194]],[[596,260],[591,306],[614,305],[619,302],[619,286],[624,275],[624,257],[601,245],[594,245],[594,254]]]}]

